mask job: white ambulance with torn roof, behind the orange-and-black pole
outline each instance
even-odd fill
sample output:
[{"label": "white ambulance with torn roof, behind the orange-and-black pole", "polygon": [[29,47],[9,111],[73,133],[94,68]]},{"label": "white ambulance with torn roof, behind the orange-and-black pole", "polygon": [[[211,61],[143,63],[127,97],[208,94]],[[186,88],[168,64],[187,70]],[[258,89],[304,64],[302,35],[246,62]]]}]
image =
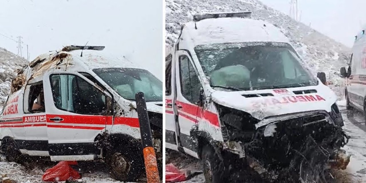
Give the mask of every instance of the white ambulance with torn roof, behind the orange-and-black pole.
[{"label": "white ambulance with torn roof, behind the orange-and-black pole", "polygon": [[[163,85],[104,46],[66,46],[18,70],[0,118],[1,151],[52,161],[104,159],[117,180],[144,172],[135,93],[145,93],[161,168]],[[161,171],[161,170],[160,170]]]}]

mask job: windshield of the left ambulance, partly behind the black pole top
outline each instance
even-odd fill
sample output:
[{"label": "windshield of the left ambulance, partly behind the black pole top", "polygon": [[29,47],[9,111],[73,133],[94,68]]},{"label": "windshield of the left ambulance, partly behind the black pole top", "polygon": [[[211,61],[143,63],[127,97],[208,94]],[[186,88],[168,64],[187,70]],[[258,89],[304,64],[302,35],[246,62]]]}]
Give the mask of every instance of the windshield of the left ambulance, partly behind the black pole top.
[{"label": "windshield of the left ambulance, partly behind the black pole top", "polygon": [[149,71],[137,68],[102,68],[93,71],[127,100],[135,100],[135,94],[142,91],[146,102],[163,101],[163,83]]}]

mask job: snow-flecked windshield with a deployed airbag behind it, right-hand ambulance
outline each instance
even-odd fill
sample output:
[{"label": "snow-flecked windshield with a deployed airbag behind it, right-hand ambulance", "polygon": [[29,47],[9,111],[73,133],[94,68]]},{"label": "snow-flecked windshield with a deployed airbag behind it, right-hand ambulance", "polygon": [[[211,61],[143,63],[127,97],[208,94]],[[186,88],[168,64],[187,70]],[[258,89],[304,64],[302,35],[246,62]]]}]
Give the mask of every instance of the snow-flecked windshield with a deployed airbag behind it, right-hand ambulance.
[{"label": "snow-flecked windshield with a deployed airbag behind it, right-hand ambulance", "polygon": [[285,43],[250,42],[199,45],[195,52],[215,88],[255,90],[317,85]]}]

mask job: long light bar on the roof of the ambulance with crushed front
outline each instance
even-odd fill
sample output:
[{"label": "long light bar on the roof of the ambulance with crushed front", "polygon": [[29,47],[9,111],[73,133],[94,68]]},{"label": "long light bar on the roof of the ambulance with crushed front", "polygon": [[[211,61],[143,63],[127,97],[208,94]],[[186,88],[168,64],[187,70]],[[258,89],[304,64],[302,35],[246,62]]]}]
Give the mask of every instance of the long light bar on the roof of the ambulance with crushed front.
[{"label": "long light bar on the roof of the ambulance with crushed front", "polygon": [[221,12],[221,13],[202,13],[193,15],[193,20],[195,22],[210,19],[210,18],[231,18],[231,17],[238,17],[238,18],[250,18],[251,12]]}]

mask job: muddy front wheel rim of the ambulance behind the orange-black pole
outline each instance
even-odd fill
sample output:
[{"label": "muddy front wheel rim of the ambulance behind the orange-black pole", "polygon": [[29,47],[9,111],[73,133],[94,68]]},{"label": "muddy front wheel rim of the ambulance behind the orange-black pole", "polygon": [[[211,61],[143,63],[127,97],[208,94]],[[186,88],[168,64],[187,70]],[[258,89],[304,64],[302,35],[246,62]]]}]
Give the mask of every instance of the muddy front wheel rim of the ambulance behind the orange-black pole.
[{"label": "muddy front wheel rim of the ambulance behind the orange-black pole", "polygon": [[130,172],[131,163],[122,153],[114,153],[111,158],[111,168],[114,173],[124,176]]}]

